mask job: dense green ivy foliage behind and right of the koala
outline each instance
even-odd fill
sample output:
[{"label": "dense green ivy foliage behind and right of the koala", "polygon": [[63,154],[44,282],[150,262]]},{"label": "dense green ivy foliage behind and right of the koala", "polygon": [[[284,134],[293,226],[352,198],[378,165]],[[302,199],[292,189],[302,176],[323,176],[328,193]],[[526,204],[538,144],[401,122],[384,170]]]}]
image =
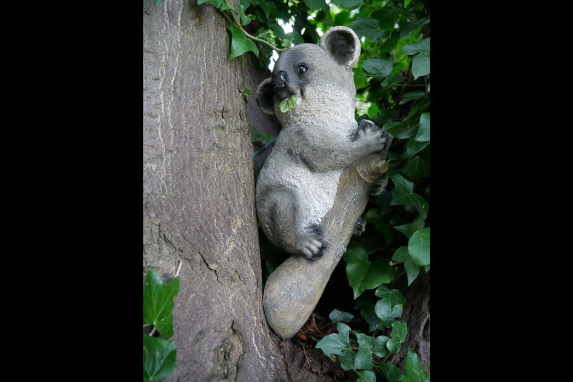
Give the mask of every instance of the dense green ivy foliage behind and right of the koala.
[{"label": "dense green ivy foliage behind and right of the koala", "polygon": [[[262,67],[269,65],[273,50],[280,53],[291,44],[319,42],[317,28],[324,33],[329,27],[344,25],[360,37],[360,58],[352,70],[360,110],[356,120],[371,119],[394,136],[386,157],[390,181],[386,190],[371,198],[364,214],[366,231],[352,239],[344,254],[348,283],[360,316],[333,310],[329,318],[336,323],[337,333],[323,337],[316,347],[333,361],[337,358],[343,369],[356,371],[360,382],[376,381],[375,372],[390,382],[418,380],[409,379],[423,375],[417,357],[409,353],[406,373],[387,363],[386,358],[399,351],[407,334],[406,322],[397,321],[406,300],[401,291],[391,289],[390,283],[405,274],[411,285],[422,267],[430,269],[429,3],[241,0],[235,11],[233,6],[227,9],[226,0],[210,2],[235,28],[229,27],[232,41],[238,40],[234,50],[231,41],[230,59],[257,52]],[[292,32],[285,33],[281,25],[286,24],[292,26]],[[245,25],[256,26],[256,37],[245,33]],[[248,88],[244,93],[249,94]],[[281,112],[295,106],[296,99],[291,97],[279,105]],[[274,140],[254,127],[252,136],[253,140],[261,139],[264,147]],[[288,257],[268,241],[262,243],[261,254],[265,273]],[[344,322],[358,327],[351,329]],[[370,335],[360,332],[366,332],[364,325]]]}]

